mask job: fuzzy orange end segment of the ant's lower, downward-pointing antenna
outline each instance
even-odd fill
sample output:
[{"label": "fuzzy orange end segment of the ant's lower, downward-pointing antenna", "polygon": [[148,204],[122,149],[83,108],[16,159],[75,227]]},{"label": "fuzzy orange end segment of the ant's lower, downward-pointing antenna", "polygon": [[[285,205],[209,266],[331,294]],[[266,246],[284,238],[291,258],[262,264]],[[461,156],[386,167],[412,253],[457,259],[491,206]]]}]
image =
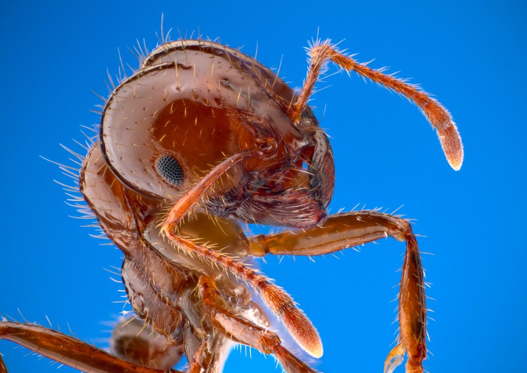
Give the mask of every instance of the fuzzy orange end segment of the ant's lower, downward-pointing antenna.
[{"label": "fuzzy orange end segment of the ant's lower, downward-pointing antenna", "polygon": [[298,345],[309,355],[319,358],[324,353],[317,329],[298,308],[292,308],[281,316],[282,321]]}]

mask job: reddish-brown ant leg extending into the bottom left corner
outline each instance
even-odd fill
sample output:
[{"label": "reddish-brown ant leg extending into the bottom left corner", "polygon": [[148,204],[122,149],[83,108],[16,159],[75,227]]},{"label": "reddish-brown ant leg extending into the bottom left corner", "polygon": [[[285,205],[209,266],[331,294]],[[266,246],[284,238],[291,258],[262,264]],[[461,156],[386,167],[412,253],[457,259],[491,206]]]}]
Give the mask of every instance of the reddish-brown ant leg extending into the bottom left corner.
[{"label": "reddish-brown ant leg extending into the bottom left corner", "polygon": [[[100,373],[162,373],[165,370],[151,369],[122,360],[106,351],[67,336],[60,331],[21,322],[0,321],[0,339],[11,340],[61,364],[82,371]],[[4,370],[2,370],[4,369]],[[0,371],[7,372],[0,363]],[[181,373],[170,369],[171,373]]]}]

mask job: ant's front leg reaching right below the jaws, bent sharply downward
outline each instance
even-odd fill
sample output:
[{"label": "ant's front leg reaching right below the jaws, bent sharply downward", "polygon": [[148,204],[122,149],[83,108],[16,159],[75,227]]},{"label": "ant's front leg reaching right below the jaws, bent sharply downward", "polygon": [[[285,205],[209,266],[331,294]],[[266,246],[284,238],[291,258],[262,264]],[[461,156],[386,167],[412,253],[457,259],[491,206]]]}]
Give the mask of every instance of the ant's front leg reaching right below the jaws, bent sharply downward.
[{"label": "ant's front leg reaching right below the jaws, bent sharply downward", "polygon": [[391,236],[406,241],[399,290],[399,343],[389,353],[385,372],[392,372],[408,354],[406,371],[422,372],[426,358],[424,272],[412,227],[407,220],[376,211],[329,216],[319,225],[273,235],[251,237],[249,255],[323,255]]}]

